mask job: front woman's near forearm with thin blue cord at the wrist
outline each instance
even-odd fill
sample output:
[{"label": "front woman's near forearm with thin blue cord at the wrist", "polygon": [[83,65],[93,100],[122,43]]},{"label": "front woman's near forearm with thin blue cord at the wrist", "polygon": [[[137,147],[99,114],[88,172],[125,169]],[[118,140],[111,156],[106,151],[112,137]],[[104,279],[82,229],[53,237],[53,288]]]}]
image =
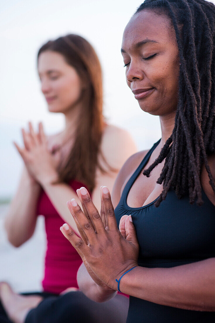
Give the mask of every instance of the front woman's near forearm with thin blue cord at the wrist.
[{"label": "front woman's near forearm with thin blue cord at the wrist", "polygon": [[161,305],[215,311],[215,258],[173,268],[136,267],[122,277],[120,290]]}]

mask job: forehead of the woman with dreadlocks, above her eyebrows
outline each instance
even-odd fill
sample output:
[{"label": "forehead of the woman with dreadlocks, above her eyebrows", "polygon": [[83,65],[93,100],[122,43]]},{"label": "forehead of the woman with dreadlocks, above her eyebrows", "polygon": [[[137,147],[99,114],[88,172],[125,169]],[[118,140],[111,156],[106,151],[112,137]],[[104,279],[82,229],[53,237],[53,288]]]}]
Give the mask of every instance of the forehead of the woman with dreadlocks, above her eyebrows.
[{"label": "forehead of the woman with dreadlocks, above her eyebrows", "polygon": [[140,11],[132,16],[123,33],[122,49],[128,51],[144,39],[162,44],[175,42],[175,32],[169,18],[149,10]]}]

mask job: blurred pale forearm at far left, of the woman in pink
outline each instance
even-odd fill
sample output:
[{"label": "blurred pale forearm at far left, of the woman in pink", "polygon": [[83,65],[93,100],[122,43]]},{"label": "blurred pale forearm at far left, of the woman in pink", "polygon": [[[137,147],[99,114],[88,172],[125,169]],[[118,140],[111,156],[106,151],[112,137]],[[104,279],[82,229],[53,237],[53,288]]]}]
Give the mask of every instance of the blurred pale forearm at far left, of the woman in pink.
[{"label": "blurred pale forearm at far left, of the woman in pink", "polygon": [[8,240],[16,247],[22,245],[34,233],[36,205],[41,187],[24,170],[15,197],[5,219]]}]

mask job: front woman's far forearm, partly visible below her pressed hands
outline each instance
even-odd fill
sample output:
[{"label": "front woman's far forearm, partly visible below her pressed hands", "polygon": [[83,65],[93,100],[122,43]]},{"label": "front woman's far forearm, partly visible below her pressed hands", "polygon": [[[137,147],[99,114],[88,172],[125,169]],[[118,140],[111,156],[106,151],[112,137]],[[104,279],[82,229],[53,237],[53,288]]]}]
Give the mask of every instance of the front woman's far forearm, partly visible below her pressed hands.
[{"label": "front woman's far forearm, partly visible below her pressed hands", "polygon": [[84,264],[78,269],[77,282],[79,289],[94,302],[105,302],[116,294],[114,290],[105,289],[97,285],[89,275]]}]

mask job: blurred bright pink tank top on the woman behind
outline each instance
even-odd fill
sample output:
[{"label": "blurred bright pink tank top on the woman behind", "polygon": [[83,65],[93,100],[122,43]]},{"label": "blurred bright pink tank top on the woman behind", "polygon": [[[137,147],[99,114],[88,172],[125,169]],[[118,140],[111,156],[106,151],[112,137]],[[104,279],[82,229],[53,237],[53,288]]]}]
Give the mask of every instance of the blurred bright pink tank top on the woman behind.
[{"label": "blurred bright pink tank top on the woman behind", "polygon": [[[74,192],[84,186],[83,183],[74,180],[69,182],[69,185]],[[60,294],[68,287],[78,288],[76,275],[78,268],[82,264],[82,259],[61,233],[60,226],[65,221],[60,217],[44,191],[41,192],[38,199],[37,214],[44,215],[47,238],[44,278],[42,281],[44,291]]]}]

